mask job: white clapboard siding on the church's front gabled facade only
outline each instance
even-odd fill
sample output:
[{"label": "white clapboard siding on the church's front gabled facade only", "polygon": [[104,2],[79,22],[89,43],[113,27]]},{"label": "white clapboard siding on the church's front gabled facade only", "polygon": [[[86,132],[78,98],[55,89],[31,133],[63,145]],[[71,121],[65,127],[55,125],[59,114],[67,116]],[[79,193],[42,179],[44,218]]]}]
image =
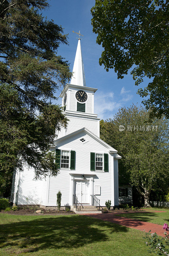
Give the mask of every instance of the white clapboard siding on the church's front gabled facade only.
[{"label": "white clapboard siding on the church's front gabled facade only", "polygon": [[[87,140],[86,143],[82,144],[79,140],[83,137]],[[77,173],[92,173],[94,175],[94,189],[95,186],[101,186],[101,195],[97,196],[100,199],[100,204],[105,205],[106,200],[112,200],[112,166],[111,166],[111,156],[108,150],[102,146],[99,142],[91,138],[85,132],[81,132],[74,137],[68,138],[57,145],[59,149],[75,150],[76,151],[76,161],[75,161],[75,172]],[[104,171],[90,171],[90,152],[95,153],[108,153],[109,154],[109,172]],[[82,167],[83,166],[83,167]],[[71,204],[70,202],[70,179],[69,174],[71,170],[61,169],[57,177],[50,177],[50,187],[49,187],[49,204],[56,203],[57,192],[60,190],[62,193],[61,205]],[[113,205],[113,203],[112,203]]]}]

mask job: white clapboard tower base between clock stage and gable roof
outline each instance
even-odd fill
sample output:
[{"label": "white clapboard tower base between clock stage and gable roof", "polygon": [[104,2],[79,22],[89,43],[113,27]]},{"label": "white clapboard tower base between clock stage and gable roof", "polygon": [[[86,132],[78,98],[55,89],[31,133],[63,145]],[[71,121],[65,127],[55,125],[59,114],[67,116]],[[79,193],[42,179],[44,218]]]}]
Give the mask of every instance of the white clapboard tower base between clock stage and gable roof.
[{"label": "white clapboard tower base between clock stage and gable roof", "polygon": [[96,136],[99,136],[98,123],[99,120],[92,120],[84,117],[67,116],[69,119],[66,135],[75,132],[83,127],[87,128],[90,132],[93,132]]}]

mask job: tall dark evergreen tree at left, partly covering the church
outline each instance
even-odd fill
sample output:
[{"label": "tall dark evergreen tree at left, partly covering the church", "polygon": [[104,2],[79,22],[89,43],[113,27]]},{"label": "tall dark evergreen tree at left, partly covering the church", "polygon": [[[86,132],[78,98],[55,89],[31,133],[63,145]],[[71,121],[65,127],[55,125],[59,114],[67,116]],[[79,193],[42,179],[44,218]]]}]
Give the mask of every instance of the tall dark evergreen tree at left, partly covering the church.
[{"label": "tall dark evergreen tree at left, partly covering the church", "polygon": [[[55,92],[70,79],[69,65],[57,49],[67,44],[61,26],[41,11],[46,0],[0,1],[0,182],[14,166],[27,162],[36,177],[57,174],[55,129],[66,126]],[[22,156],[22,158],[18,158]],[[6,180],[6,181],[5,181]]]}]

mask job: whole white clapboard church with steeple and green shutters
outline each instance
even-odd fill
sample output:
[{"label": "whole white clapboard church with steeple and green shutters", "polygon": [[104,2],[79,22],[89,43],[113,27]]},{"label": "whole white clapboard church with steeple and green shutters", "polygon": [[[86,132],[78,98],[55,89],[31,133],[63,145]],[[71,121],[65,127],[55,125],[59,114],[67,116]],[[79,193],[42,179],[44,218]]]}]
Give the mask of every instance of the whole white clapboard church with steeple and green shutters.
[{"label": "whole white clapboard church with steeple and green shutters", "polygon": [[81,43],[78,40],[73,76],[60,94],[67,128],[62,128],[50,146],[60,164],[57,176],[33,180],[34,170],[24,166],[14,172],[11,201],[16,205],[57,206],[60,190],[61,206],[118,205],[117,150],[100,139],[99,118],[94,113],[95,88],[86,86]]}]

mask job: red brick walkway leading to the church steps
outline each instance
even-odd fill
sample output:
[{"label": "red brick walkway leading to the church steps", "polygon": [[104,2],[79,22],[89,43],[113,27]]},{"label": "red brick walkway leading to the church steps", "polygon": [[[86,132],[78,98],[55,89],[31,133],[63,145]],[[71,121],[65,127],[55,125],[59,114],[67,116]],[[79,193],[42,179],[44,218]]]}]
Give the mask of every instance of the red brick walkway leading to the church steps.
[{"label": "red brick walkway leading to the church steps", "polygon": [[116,216],[114,213],[102,213],[102,214],[85,214],[89,217],[93,217],[99,220],[105,220],[112,223],[116,223],[128,228],[135,228],[138,230],[145,230],[148,232],[151,229],[151,233],[156,232],[159,236],[164,236],[164,230],[162,225],[154,224],[151,222],[144,222],[135,219],[129,219],[125,217]]}]

